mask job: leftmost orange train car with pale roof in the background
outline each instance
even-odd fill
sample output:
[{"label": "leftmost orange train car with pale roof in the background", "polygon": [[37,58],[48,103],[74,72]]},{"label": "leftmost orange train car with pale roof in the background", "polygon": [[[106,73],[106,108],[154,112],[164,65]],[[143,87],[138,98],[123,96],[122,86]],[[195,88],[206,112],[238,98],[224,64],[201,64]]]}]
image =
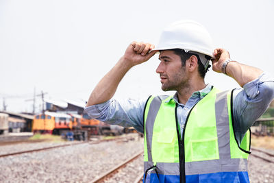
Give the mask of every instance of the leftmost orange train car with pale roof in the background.
[{"label": "leftmost orange train car with pale roof in the background", "polygon": [[71,115],[45,112],[45,114],[38,114],[34,117],[32,130],[34,132],[61,134],[62,130],[71,130],[72,127]]}]

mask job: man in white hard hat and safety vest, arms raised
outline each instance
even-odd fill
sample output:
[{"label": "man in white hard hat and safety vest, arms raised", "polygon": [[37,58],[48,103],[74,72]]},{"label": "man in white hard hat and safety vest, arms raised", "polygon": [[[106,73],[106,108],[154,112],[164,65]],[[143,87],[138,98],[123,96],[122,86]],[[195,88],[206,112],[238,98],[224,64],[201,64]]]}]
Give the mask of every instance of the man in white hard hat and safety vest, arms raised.
[{"label": "man in white hard hat and safety vest, arms raised", "polygon": [[[157,51],[162,90],[177,93],[138,101],[111,99],[125,73]],[[221,92],[205,84],[210,60],[213,71],[243,88]],[[213,51],[203,26],[179,21],[166,27],[156,49],[132,42],[92,91],[85,110],[90,117],[145,134],[145,182],[249,182],[249,127],[273,93],[273,80],[260,69],[230,60],[225,49]]]}]

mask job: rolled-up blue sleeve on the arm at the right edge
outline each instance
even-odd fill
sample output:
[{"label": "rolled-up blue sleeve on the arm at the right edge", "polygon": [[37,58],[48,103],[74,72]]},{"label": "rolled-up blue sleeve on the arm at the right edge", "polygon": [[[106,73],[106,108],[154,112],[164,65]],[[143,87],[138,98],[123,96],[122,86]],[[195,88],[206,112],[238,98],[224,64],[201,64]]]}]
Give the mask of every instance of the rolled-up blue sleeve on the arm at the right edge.
[{"label": "rolled-up blue sleeve on the arm at the right edge", "polygon": [[236,137],[241,141],[245,132],[264,114],[274,97],[273,77],[262,73],[234,91],[233,112]]}]

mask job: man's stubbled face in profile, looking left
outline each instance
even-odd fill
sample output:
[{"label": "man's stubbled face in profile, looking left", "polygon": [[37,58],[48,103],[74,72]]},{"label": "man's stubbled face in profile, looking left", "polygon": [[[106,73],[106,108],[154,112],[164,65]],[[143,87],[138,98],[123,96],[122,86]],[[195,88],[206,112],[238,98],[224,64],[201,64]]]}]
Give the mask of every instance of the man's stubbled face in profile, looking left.
[{"label": "man's stubbled face in profile, looking left", "polygon": [[162,90],[179,90],[186,87],[188,75],[186,67],[182,66],[181,58],[171,50],[164,50],[161,51],[159,60],[161,62],[156,73],[160,74]]}]

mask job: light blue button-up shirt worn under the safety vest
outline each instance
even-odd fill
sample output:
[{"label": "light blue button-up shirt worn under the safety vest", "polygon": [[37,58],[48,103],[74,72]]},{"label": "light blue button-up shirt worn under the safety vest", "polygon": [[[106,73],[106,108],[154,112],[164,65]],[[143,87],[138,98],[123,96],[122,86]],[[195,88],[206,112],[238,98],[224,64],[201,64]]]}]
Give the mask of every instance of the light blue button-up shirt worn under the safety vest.
[{"label": "light blue button-up shirt worn under the safety vest", "polygon": [[[181,136],[186,117],[192,106],[206,96],[212,88],[208,84],[203,90],[192,93],[186,104],[178,103],[177,95],[173,99],[179,104],[177,108],[178,123]],[[233,95],[234,129],[238,142],[242,141],[245,133],[253,123],[264,113],[274,97],[274,80],[263,73],[258,79],[253,80],[243,88],[234,90]],[[124,127],[133,126],[138,132],[143,133],[143,112],[147,99],[124,99],[117,101],[110,99],[104,103],[85,108],[88,115],[99,121]]]}]

